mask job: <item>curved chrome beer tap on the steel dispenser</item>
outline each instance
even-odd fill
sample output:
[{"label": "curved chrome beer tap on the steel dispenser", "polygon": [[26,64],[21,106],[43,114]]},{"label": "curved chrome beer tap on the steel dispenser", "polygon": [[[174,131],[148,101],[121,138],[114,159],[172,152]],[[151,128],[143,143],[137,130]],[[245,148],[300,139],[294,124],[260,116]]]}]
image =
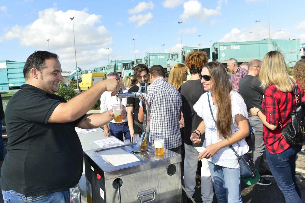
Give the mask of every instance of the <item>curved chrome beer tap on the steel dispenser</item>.
[{"label": "curved chrome beer tap on the steel dispenser", "polygon": [[142,135],[141,135],[138,143],[132,149],[132,152],[141,152],[141,151],[148,150],[149,128],[150,128],[150,109],[149,109],[149,104],[148,104],[146,98],[143,96],[143,94],[145,94],[145,93],[147,93],[147,84],[141,83],[138,92],[131,92],[131,93],[119,92],[117,94],[117,97],[120,98],[120,101],[122,100],[122,98],[134,97],[134,98],[139,98],[140,101],[142,102],[143,112],[144,112]]}]

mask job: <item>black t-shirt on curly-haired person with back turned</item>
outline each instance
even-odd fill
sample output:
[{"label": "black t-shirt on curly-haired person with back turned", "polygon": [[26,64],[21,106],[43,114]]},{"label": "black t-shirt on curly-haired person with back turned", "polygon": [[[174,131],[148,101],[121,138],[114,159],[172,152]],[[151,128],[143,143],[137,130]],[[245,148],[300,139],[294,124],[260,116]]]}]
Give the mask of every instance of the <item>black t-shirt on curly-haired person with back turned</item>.
[{"label": "black t-shirt on curly-haired person with back turned", "polygon": [[182,97],[182,112],[184,116],[184,143],[188,145],[194,145],[202,147],[205,133],[202,134],[200,144],[193,144],[190,140],[191,134],[198,127],[199,123],[202,122],[202,118],[197,115],[194,111],[194,104],[199,100],[200,96],[206,91],[203,88],[200,80],[188,80],[180,88],[180,93]]}]

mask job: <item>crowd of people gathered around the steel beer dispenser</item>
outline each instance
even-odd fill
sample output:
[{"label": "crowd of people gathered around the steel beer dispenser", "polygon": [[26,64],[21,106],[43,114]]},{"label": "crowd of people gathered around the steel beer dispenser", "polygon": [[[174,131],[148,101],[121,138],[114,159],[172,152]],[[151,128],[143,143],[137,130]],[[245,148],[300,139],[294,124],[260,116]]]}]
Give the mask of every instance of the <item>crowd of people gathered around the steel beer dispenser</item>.
[{"label": "crowd of people gathered around the steel beer dispenser", "polygon": [[[296,154],[305,151],[285,141],[281,126],[291,122],[296,85],[300,101],[305,101],[305,59],[294,67],[296,81],[278,51],[268,52],[263,61],[253,59],[240,66],[234,58],[227,67],[208,60],[205,52],[190,52],[185,64],[173,66],[168,80],[162,66],[148,69],[138,64],[126,87],[120,75],[112,72],[109,80],[67,102],[55,94],[62,81],[58,56],[45,51],[30,55],[23,71],[26,84],[10,99],[5,112],[4,201],[68,202],[69,188],[78,182],[83,166],[74,127],[103,126],[104,136],[132,141],[133,135],[142,134],[142,104],[136,98],[123,98],[121,122],[115,122],[112,105],[120,104],[115,96],[120,88],[135,92],[144,82],[151,115],[149,141],[162,135],[164,148],[181,154],[181,181],[188,194],[183,193],[183,202],[192,202],[198,182],[203,202],[212,202],[214,192],[218,202],[243,202],[235,152],[242,156],[252,150],[259,172],[254,183],[267,187],[272,181],[265,177],[274,177],[285,201],[300,203],[295,162]],[[100,113],[86,114],[99,98]],[[246,142],[250,129],[255,140],[252,149]]]}]

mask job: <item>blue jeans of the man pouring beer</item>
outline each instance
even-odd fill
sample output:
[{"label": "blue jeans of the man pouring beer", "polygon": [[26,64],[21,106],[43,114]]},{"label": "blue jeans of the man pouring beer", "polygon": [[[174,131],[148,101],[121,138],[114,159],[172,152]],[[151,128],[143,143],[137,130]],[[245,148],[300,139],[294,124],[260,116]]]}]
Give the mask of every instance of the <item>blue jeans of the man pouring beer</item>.
[{"label": "blue jeans of the man pouring beer", "polygon": [[64,190],[59,192],[52,192],[43,195],[35,195],[31,197],[25,197],[24,194],[20,194],[13,190],[2,190],[4,203],[69,203],[70,202],[70,190]]}]

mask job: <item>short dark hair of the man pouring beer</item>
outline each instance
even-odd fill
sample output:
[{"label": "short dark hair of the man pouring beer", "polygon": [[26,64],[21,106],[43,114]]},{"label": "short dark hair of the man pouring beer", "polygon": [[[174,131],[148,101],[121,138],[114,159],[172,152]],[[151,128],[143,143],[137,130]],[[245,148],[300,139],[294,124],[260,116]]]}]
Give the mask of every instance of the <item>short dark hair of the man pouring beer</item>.
[{"label": "short dark hair of the man pouring beer", "polygon": [[29,78],[29,73],[32,68],[36,68],[39,72],[42,72],[43,69],[47,68],[47,66],[45,66],[45,59],[58,59],[58,55],[46,51],[37,51],[31,54],[23,67],[24,78]]}]

